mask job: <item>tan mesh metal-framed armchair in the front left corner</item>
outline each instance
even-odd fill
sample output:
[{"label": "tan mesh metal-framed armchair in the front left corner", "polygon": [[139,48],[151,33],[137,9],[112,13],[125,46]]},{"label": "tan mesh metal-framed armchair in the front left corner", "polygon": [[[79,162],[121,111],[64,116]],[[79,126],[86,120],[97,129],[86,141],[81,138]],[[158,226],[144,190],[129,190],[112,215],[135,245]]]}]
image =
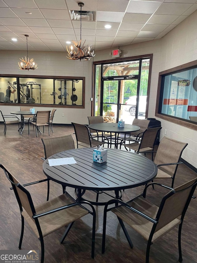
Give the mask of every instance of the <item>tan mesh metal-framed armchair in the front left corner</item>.
[{"label": "tan mesh metal-framed armchair in the front left corner", "polygon": [[[59,228],[64,228],[67,225],[66,231],[64,232],[60,243],[62,244],[66,238],[70,228],[74,224],[74,221],[87,215],[93,216],[92,224],[92,251],[91,257],[94,258],[94,242],[95,242],[95,223],[96,223],[96,212],[94,207],[87,201],[75,202],[67,194],[60,195],[54,199],[42,203],[38,206],[34,206],[30,192],[26,190],[25,186],[34,183],[41,183],[48,179],[41,180],[34,183],[22,185],[18,180],[10,174],[10,172],[0,164],[0,167],[4,170],[7,179],[12,184],[14,194],[18,201],[18,205],[21,212],[21,236],[18,248],[21,249],[22,238],[24,232],[24,219],[29,224],[31,230],[39,238],[41,243],[41,263],[44,262],[44,240],[43,237],[51,234]],[[91,211],[84,208],[82,204],[90,206]]]}]

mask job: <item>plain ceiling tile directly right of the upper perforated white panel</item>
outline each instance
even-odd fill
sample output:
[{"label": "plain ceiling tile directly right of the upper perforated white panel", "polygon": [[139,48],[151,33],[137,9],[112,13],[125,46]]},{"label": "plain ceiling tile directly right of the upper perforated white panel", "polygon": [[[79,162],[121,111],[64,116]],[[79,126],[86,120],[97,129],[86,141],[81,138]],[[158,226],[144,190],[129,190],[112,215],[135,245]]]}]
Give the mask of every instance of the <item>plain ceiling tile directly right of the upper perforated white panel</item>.
[{"label": "plain ceiling tile directly right of the upper perforated white panel", "polygon": [[181,15],[185,12],[192,4],[182,3],[163,3],[155,12],[155,14],[178,14]]}]

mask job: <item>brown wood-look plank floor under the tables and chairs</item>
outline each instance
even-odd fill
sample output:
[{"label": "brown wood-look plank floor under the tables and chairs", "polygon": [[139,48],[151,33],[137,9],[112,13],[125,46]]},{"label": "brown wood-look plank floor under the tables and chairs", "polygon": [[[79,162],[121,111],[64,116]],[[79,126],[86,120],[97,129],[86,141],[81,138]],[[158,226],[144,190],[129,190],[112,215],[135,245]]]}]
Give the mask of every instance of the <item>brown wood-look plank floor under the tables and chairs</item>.
[{"label": "brown wood-look plank floor under the tables and chairs", "polygon": [[[35,130],[31,128],[30,136],[25,127],[22,136],[17,132],[17,125],[8,125],[6,136],[3,134],[4,126],[0,124],[0,162],[8,167],[21,183],[32,182],[44,179],[42,172],[42,159],[44,156],[41,138],[48,137],[47,129],[45,134],[35,136]],[[54,134],[58,137],[66,134],[73,134],[72,126],[54,126]],[[180,165],[176,174],[175,187],[196,177],[196,174],[185,165]],[[170,185],[169,180],[159,182]],[[18,203],[14,192],[10,191],[10,182],[6,179],[3,171],[0,170],[0,249],[18,249],[18,242],[21,230],[21,219]],[[28,187],[35,205],[46,200],[46,183]],[[67,190],[74,196],[74,189]],[[143,187],[126,190],[123,193],[123,200],[126,201],[138,195]],[[166,191],[162,188],[150,188],[147,198],[159,205],[159,202]],[[57,183],[50,183],[50,199],[62,194],[62,187]],[[195,191],[195,195],[197,192]],[[87,199],[95,200],[96,195],[86,191]],[[106,195],[99,196],[99,201],[109,199]],[[197,262],[197,199],[192,199],[187,210],[182,229],[182,253],[183,263]],[[103,207],[96,207],[97,226],[95,240],[95,258],[91,259],[91,224],[92,216],[87,215],[74,223],[65,243],[60,244],[64,228],[46,236],[45,242],[45,263],[145,263],[146,241],[133,229],[127,227],[134,244],[130,249],[117,218],[111,212],[107,220],[106,251],[101,254]],[[151,246],[150,263],[176,263],[178,262],[178,228],[173,229],[167,235],[160,238]],[[22,249],[40,249],[40,242],[25,224]]]}]

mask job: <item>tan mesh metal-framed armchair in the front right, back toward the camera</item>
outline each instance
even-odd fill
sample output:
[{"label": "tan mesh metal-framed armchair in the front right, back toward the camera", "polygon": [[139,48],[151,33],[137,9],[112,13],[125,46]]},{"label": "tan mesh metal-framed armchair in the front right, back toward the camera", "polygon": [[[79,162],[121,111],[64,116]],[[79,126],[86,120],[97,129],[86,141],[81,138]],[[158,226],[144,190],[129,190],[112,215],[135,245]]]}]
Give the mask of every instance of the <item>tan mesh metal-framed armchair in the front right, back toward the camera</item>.
[{"label": "tan mesh metal-framed armchair in the front right, back toward the camera", "polygon": [[[147,187],[153,184],[171,190],[163,197],[159,207],[146,199]],[[105,252],[107,212],[111,211],[118,217],[119,223],[131,248],[133,248],[133,244],[123,221],[147,240],[146,263],[149,263],[149,252],[153,242],[179,225],[179,262],[182,262],[181,229],[196,184],[197,178],[175,189],[159,183],[150,183],[145,187],[143,194],[138,195],[127,203],[118,199],[108,201],[104,208],[102,253]],[[115,203],[116,206],[118,204],[120,205],[114,208],[108,208],[108,205],[112,203]]]}]

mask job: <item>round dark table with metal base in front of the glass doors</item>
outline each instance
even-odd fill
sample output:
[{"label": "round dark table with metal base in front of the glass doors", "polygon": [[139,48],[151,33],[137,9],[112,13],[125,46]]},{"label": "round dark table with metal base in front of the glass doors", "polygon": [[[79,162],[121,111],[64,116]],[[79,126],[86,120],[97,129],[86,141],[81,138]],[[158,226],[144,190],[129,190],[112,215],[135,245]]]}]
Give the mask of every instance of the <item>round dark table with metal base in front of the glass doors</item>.
[{"label": "round dark table with metal base in front of the glass doors", "polygon": [[[118,149],[118,145],[121,144],[121,141],[123,139],[123,138],[119,139],[120,133],[128,134],[128,133],[140,130],[140,127],[136,125],[125,124],[124,127],[118,127],[118,123],[108,123],[108,122],[94,123],[94,124],[88,125],[88,127],[92,130],[96,130],[100,132],[115,133],[113,137],[112,136],[110,137],[110,148],[114,144],[116,149]],[[103,136],[105,136],[105,134],[103,134]]]}]

